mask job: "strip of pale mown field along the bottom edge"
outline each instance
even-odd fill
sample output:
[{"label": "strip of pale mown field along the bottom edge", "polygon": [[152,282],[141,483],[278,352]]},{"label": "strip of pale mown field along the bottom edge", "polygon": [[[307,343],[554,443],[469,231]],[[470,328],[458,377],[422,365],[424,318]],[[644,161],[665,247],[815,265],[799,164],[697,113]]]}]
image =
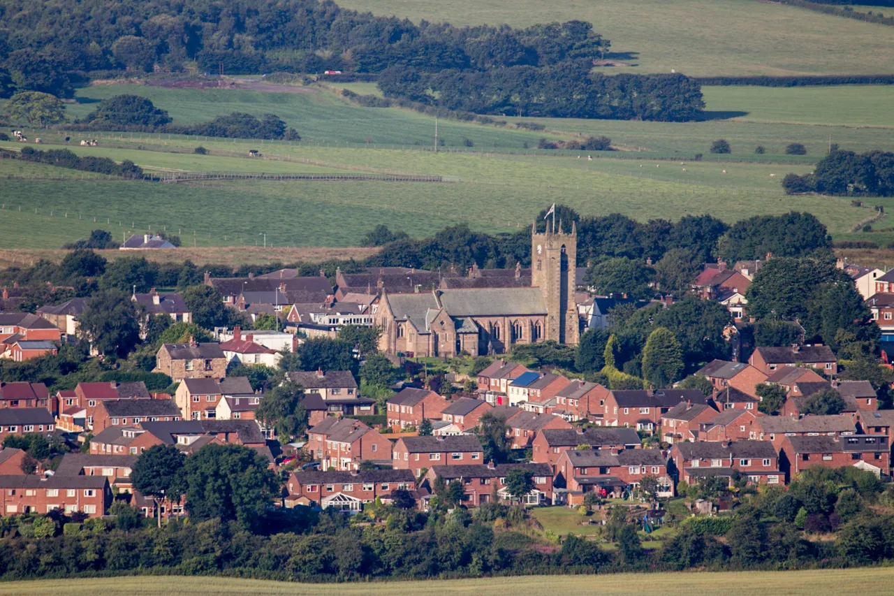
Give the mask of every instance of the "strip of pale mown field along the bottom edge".
[{"label": "strip of pale mown field along the bottom edge", "polygon": [[0,595],[30,596],[480,596],[533,593],[564,596],[638,596],[650,588],[664,596],[753,596],[780,594],[836,596],[888,594],[894,568],[876,567],[816,571],[723,572],[685,574],[618,574],[521,576],[468,580],[388,583],[283,583],[222,577],[116,577],[0,583]]}]

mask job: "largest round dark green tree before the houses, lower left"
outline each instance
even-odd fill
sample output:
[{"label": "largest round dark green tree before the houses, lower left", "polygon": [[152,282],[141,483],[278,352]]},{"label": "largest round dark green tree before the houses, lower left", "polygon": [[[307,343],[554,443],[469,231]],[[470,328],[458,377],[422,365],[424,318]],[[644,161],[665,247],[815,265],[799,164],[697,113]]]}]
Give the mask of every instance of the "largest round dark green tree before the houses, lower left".
[{"label": "largest round dark green tree before the houses, lower left", "polygon": [[254,449],[210,444],[186,460],[186,509],[195,521],[218,518],[257,529],[279,494],[267,460]]}]

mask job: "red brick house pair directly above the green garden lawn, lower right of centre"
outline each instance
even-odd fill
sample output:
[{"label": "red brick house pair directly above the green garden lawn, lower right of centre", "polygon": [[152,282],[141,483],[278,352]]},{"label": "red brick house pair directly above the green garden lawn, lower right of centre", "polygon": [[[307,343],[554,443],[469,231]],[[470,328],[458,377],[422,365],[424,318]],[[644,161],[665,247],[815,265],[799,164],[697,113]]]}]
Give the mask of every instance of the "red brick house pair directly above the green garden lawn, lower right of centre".
[{"label": "red brick house pair directly above the green garden lawn, lower right of centre", "polygon": [[578,505],[587,492],[627,496],[645,476],[658,481],[659,497],[673,496],[667,458],[658,449],[628,449],[617,454],[604,449],[569,449],[556,463],[555,482],[564,483],[569,505]]}]

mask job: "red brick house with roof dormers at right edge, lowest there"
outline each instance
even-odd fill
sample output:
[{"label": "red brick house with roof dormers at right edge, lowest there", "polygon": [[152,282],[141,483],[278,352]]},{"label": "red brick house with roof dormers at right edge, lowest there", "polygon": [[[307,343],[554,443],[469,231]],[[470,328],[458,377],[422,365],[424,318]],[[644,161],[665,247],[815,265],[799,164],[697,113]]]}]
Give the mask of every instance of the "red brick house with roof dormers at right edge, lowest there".
[{"label": "red brick house with roof dormers at right edge, lowest there", "polygon": [[890,475],[890,439],[885,435],[786,437],[780,460],[788,478],[814,465],[840,468],[856,465],[875,475]]}]

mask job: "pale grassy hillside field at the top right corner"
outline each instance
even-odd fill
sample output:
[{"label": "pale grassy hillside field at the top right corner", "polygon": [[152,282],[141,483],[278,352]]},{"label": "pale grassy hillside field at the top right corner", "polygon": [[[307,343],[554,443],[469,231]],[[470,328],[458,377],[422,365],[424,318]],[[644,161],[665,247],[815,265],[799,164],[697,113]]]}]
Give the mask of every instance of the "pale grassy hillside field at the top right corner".
[{"label": "pale grassy hillside field at the top right corner", "polygon": [[[693,76],[891,72],[890,27],[759,0],[343,0],[343,6],[413,21],[525,26],[590,21],[632,68]],[[878,10],[878,9],[876,9]],[[885,14],[890,9],[882,9]]]}]

